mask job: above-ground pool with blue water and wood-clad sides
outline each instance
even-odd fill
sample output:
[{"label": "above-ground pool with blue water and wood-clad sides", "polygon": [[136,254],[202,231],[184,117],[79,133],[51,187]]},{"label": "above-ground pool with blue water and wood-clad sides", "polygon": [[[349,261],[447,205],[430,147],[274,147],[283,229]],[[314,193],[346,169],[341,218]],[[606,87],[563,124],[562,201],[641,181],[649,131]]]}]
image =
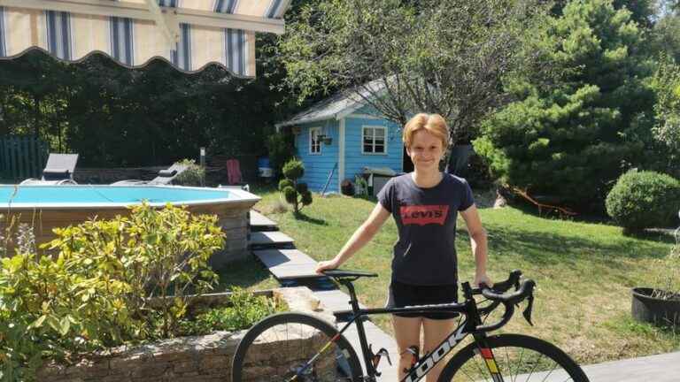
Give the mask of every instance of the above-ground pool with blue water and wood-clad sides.
[{"label": "above-ground pool with blue water and wood-clad sides", "polygon": [[[168,202],[185,205],[191,213],[217,215],[227,233],[227,245],[220,256],[223,263],[245,255],[248,211],[259,197],[238,188],[0,185],[0,214],[5,215],[2,225],[12,217],[19,218],[20,223],[34,227],[38,244],[55,237],[54,227],[127,215],[128,206],[143,201],[158,207]],[[7,249],[13,251],[13,247]]]}]

